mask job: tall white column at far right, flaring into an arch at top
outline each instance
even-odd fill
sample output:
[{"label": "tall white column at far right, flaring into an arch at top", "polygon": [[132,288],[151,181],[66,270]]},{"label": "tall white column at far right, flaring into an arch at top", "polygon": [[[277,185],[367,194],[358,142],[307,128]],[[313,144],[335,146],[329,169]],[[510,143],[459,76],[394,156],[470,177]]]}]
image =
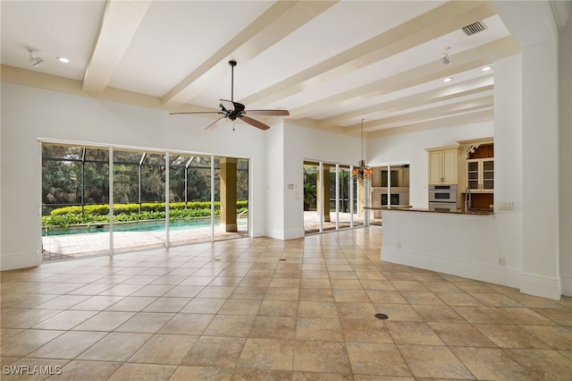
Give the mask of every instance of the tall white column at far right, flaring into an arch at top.
[{"label": "tall white column at far right, flaring into an arch at top", "polygon": [[[569,199],[572,192],[562,186],[560,179],[560,167],[568,166],[569,161],[562,161],[567,156],[559,153],[559,138],[569,126],[562,125],[560,118],[565,114],[559,107],[570,108],[569,91],[572,84],[562,81],[569,79],[566,72],[569,74],[570,69],[562,70],[559,64],[562,63],[562,55],[569,57],[570,46],[559,44],[559,39],[565,38],[565,33],[558,30],[549,2],[495,1],[493,4],[511,34],[517,38],[522,51],[524,171],[521,290],[533,294],[539,294],[539,290],[566,294],[566,290],[560,290],[564,283],[561,282],[559,266],[571,254],[560,247],[559,235],[569,233],[563,230],[566,223],[562,224],[560,215],[563,212],[561,199]],[[568,29],[570,27],[568,21]],[[563,91],[562,88],[567,90]],[[568,289],[569,292],[572,290]]]}]

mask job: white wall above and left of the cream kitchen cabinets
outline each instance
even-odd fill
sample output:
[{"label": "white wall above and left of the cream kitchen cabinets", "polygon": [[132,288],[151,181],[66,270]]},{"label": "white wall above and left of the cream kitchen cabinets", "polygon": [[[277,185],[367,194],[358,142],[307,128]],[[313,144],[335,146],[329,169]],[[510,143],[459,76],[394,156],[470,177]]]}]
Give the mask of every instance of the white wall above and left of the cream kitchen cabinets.
[{"label": "white wall above and left of the cream kitchen cabinets", "polygon": [[369,164],[409,163],[409,204],[428,207],[428,155],[425,148],[453,146],[458,140],[490,138],[493,123],[472,123],[369,140]]}]

